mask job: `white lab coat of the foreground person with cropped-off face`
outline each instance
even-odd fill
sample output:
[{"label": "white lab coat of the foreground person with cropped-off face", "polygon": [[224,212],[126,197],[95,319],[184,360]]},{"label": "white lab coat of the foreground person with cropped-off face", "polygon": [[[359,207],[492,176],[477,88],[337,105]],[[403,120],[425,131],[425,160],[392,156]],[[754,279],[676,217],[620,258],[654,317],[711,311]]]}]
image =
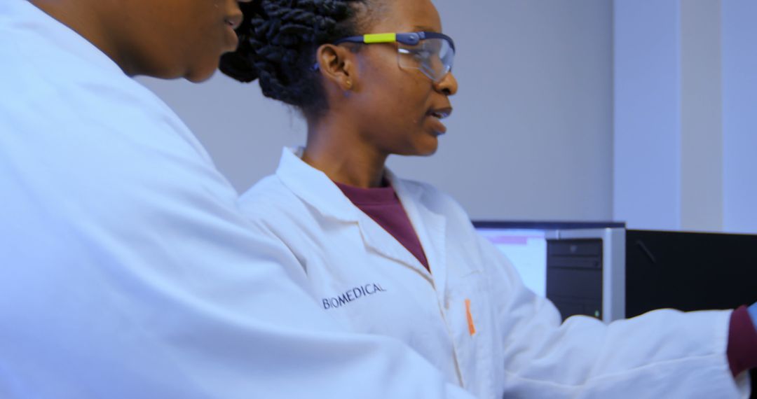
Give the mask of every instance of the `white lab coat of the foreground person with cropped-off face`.
[{"label": "white lab coat of the foreground person with cropped-off face", "polygon": [[469,397],[324,314],[237,199],[154,94],[0,1],[0,397]]}]

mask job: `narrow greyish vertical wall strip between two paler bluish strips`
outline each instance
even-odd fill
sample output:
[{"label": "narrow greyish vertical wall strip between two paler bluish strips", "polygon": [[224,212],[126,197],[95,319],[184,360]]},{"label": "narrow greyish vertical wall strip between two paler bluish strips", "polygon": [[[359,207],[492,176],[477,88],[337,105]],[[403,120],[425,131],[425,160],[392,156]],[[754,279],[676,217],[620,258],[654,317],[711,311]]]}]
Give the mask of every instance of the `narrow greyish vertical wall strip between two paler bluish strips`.
[{"label": "narrow greyish vertical wall strip between two paler bluish strips", "polygon": [[683,230],[724,230],[721,3],[681,1]]}]

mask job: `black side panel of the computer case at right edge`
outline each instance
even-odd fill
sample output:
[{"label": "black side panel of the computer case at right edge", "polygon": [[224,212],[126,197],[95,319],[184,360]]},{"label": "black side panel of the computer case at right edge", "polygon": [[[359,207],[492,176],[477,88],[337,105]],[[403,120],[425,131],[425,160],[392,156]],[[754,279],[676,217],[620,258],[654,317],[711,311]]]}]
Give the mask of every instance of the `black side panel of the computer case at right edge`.
[{"label": "black side panel of the computer case at right edge", "polygon": [[757,301],[757,235],[626,230],[626,316]]}]

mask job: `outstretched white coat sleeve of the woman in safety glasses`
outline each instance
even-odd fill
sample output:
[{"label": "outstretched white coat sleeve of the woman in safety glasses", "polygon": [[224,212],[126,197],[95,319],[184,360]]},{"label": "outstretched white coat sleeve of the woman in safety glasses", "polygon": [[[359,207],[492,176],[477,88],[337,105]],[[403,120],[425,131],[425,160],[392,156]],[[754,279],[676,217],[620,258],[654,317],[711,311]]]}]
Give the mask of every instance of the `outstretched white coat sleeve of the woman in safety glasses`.
[{"label": "outstretched white coat sleeve of the woman in safety glasses", "polygon": [[[473,233],[475,234],[475,233]],[[497,287],[505,392],[540,397],[748,397],[725,354],[731,311],[653,311],[609,325],[575,316],[560,323],[509,261],[475,237]]]}]

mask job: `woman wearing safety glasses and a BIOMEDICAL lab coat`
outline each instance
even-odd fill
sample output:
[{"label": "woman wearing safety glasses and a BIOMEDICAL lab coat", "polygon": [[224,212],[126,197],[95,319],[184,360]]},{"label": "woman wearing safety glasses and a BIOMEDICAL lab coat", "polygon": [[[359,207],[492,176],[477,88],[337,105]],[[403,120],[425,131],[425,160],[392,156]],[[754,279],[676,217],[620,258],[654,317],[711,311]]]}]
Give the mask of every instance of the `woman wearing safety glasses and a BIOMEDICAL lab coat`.
[{"label": "woman wearing safety glasses and a BIOMEDICAL lab coat", "polygon": [[[455,45],[429,0],[264,0],[222,62],[298,107],[307,145],[241,198],[323,311],[406,342],[479,397],[741,397],[731,311],[560,323],[463,209],[385,168],[430,155],[456,93]],[[742,319],[746,311],[741,309]],[[293,365],[293,367],[296,367]]]}]

